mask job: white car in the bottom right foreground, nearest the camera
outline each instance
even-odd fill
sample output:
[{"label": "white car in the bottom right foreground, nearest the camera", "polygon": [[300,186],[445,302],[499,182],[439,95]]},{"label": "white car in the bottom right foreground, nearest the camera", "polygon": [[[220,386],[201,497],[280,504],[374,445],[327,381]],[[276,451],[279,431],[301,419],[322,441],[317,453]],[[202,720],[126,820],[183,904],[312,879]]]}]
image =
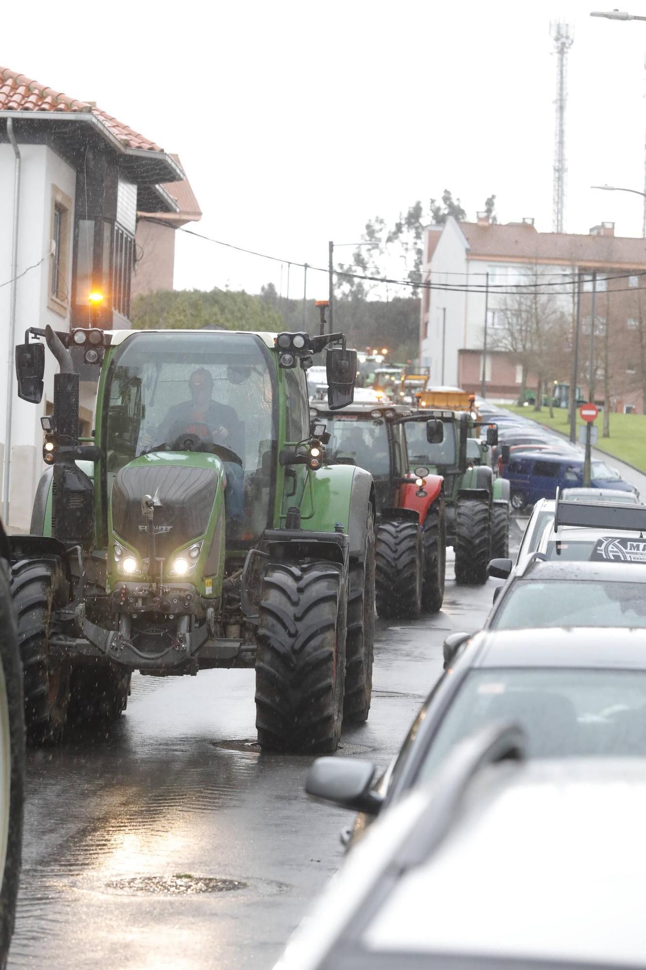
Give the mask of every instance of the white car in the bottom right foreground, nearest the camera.
[{"label": "white car in the bottom right foreground, nearest the camera", "polygon": [[512,726],[456,746],[349,854],[275,970],[642,966],[646,760],[524,756]]}]

